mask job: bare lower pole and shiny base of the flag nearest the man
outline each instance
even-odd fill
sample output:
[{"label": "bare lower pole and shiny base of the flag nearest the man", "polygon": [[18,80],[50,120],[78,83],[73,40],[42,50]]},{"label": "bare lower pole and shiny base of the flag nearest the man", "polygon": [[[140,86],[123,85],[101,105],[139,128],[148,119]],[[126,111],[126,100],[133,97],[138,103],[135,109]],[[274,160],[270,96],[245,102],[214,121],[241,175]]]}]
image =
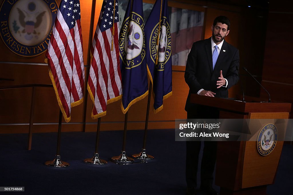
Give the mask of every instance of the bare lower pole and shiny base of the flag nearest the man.
[{"label": "bare lower pole and shiny base of the flag nearest the man", "polygon": [[145,121],[145,125],[144,125],[144,140],[143,140],[143,145],[142,145],[142,152],[139,154],[133,154],[132,157],[137,158],[139,160],[150,160],[153,159],[154,156],[148,155],[146,153],[146,141],[147,141],[147,126],[149,123],[149,107],[151,104],[151,90],[152,90],[152,83],[151,81],[149,82],[149,95],[148,95],[148,99],[147,99],[147,114],[146,114],[146,121]]}]

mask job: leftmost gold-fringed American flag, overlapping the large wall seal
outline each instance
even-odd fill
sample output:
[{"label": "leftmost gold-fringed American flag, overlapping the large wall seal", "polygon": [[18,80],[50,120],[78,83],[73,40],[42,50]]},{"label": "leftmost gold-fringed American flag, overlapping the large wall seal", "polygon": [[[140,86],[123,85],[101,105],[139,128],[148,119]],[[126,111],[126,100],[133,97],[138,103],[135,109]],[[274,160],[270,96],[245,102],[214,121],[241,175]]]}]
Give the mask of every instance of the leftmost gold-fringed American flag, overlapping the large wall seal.
[{"label": "leftmost gold-fringed American flag, overlapping the large wall seal", "polygon": [[83,102],[84,59],[79,0],[62,0],[51,34],[45,61],[57,101],[66,122],[71,107]]}]

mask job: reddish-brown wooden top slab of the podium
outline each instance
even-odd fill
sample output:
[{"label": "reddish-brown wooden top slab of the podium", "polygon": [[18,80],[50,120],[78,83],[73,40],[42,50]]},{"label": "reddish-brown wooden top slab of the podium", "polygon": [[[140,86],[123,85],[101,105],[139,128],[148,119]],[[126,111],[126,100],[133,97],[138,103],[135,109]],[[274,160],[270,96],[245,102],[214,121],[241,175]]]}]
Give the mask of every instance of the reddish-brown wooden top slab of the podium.
[{"label": "reddish-brown wooden top slab of the podium", "polygon": [[[212,106],[224,110],[241,112],[241,113],[253,113],[253,112],[290,112],[291,103],[280,102],[260,102],[253,101],[258,98],[246,98],[249,102],[242,102],[235,100],[234,98],[218,98],[202,96],[198,94],[191,94],[190,102],[205,106]],[[246,101],[245,99],[245,101]]]}]

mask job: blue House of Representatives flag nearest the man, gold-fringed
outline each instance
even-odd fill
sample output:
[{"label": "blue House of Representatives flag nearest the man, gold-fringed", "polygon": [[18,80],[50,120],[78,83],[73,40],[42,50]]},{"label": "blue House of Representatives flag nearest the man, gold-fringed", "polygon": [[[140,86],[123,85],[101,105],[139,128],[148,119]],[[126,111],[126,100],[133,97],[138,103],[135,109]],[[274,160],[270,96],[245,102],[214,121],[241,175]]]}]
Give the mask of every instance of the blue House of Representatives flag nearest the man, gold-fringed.
[{"label": "blue House of Representatives flag nearest the man, gold-fringed", "polygon": [[[160,22],[159,22],[160,21]],[[172,95],[171,32],[167,0],[156,0],[145,25],[146,60],[154,88],[154,113]]]}]

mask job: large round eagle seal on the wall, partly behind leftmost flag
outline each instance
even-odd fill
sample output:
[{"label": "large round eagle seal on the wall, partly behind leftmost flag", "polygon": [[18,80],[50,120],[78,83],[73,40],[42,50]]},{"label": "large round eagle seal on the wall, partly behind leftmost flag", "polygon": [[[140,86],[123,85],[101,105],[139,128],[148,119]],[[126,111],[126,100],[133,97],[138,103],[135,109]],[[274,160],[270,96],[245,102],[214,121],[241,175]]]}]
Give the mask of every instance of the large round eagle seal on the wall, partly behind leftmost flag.
[{"label": "large round eagle seal on the wall, partly behind leftmost flag", "polygon": [[5,0],[0,9],[1,38],[20,56],[37,56],[47,50],[57,15],[55,0]]}]

